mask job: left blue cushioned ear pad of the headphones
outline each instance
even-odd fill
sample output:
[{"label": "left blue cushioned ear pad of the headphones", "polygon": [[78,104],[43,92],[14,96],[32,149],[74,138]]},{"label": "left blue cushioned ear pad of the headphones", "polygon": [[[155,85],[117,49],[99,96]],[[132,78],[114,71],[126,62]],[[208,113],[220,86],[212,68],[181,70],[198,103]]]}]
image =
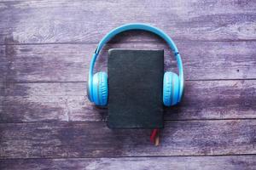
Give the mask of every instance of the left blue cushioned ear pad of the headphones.
[{"label": "left blue cushioned ear pad of the headphones", "polygon": [[93,101],[96,105],[108,104],[108,75],[106,72],[97,72],[93,75]]}]

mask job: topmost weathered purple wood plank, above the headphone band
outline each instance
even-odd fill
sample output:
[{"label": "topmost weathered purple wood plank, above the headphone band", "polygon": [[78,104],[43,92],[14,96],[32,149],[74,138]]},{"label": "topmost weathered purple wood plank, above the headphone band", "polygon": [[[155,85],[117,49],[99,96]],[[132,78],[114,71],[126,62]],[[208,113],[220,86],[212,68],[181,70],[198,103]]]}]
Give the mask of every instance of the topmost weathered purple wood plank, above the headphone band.
[{"label": "topmost weathered purple wood plank, above the headphone band", "polygon": [[253,0],[3,1],[0,43],[98,42],[130,22],[159,26],[180,41],[255,40],[255,11]]}]

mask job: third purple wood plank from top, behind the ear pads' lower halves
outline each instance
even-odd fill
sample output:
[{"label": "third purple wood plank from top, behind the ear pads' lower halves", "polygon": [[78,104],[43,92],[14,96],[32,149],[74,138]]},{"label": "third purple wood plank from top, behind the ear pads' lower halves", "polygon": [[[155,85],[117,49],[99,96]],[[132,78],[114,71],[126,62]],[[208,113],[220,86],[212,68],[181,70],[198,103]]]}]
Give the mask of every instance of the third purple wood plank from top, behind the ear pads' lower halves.
[{"label": "third purple wood plank from top, behind the ear pads' lower halves", "polygon": [[[85,82],[0,83],[0,122],[88,122],[106,119],[86,97]],[[166,120],[256,118],[256,80],[185,82],[183,102]]]}]

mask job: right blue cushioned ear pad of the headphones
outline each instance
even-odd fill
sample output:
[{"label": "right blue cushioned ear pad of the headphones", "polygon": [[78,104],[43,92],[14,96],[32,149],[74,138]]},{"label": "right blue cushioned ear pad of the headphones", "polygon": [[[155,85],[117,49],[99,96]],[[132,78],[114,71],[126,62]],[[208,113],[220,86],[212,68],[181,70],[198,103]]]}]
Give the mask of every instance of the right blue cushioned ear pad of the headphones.
[{"label": "right blue cushioned ear pad of the headphones", "polygon": [[179,79],[177,74],[166,71],[163,82],[163,102],[166,106],[176,105],[179,94]]}]

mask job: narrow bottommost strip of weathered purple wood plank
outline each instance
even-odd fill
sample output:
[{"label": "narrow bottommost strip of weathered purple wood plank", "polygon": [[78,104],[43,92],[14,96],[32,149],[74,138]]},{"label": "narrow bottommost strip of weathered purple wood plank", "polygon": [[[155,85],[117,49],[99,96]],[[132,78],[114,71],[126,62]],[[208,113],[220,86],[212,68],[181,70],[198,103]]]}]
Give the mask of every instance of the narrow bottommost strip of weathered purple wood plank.
[{"label": "narrow bottommost strip of weathered purple wood plank", "polygon": [[0,160],[2,170],[20,169],[86,169],[86,170],[253,170],[256,156],[170,156],[76,159],[12,159]]}]

